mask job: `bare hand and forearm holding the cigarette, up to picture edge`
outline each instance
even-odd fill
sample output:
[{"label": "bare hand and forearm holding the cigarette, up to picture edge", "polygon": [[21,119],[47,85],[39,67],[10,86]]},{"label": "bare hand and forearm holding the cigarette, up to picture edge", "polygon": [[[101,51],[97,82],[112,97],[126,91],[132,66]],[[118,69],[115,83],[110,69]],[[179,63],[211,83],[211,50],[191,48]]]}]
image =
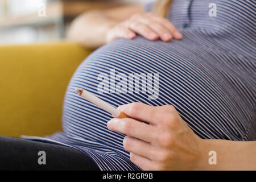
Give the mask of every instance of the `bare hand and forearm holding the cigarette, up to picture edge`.
[{"label": "bare hand and forearm holding the cigarette, up to picture edge", "polygon": [[[127,135],[123,147],[144,170],[256,170],[254,141],[201,139],[171,105],[135,102],[119,110],[130,118],[113,118],[108,129]],[[209,164],[209,151],[216,151],[216,165]]]}]

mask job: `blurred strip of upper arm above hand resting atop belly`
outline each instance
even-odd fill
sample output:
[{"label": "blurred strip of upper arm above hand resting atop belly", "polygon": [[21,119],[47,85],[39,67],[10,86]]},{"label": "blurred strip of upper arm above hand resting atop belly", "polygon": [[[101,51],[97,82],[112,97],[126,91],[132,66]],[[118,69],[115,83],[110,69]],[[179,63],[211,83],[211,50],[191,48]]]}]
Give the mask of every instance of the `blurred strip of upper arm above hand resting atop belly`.
[{"label": "blurred strip of upper arm above hand resting atop belly", "polygon": [[130,18],[131,15],[137,13],[144,13],[142,5],[128,5],[115,7],[113,9],[105,10],[105,15],[112,19],[125,20]]}]

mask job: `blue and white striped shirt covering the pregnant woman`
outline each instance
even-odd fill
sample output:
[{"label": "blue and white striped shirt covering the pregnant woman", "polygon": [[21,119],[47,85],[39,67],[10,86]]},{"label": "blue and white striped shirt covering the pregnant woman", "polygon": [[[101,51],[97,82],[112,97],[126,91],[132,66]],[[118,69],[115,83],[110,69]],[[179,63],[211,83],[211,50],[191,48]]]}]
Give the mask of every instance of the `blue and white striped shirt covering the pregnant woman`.
[{"label": "blue and white striped shirt covering the pregnant woman", "polygon": [[[215,3],[217,16],[210,16]],[[73,146],[101,170],[139,170],[123,149],[125,135],[106,127],[112,116],[77,96],[84,88],[113,106],[143,102],[174,105],[204,139],[256,140],[255,1],[176,0],[167,18],[182,40],[151,42],[137,36],[102,46],[77,68],[63,107],[63,133],[46,138]],[[98,75],[159,73],[159,96],[99,93]]]}]

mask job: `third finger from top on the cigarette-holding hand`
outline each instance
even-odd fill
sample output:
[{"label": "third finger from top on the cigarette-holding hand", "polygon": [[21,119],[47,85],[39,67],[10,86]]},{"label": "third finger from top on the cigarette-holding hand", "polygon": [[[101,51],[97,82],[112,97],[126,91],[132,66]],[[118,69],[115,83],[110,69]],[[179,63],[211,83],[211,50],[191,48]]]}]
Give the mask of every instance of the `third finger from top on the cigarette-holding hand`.
[{"label": "third finger from top on the cigarette-holding hand", "polygon": [[130,136],[126,136],[123,139],[123,148],[128,152],[133,152],[134,154],[141,155],[150,160],[154,159],[156,154],[154,146],[150,143]]}]

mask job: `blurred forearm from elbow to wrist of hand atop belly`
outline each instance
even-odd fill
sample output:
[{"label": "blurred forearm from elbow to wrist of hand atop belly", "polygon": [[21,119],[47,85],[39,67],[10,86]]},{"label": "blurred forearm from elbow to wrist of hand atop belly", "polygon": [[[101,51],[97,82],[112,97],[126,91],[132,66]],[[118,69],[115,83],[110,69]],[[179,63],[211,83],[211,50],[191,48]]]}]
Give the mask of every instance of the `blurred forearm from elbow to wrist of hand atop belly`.
[{"label": "blurred forearm from elbow to wrist of hand atop belly", "polygon": [[90,11],[71,24],[68,37],[82,46],[96,48],[106,43],[106,31],[118,22],[106,16],[104,11]]}]

